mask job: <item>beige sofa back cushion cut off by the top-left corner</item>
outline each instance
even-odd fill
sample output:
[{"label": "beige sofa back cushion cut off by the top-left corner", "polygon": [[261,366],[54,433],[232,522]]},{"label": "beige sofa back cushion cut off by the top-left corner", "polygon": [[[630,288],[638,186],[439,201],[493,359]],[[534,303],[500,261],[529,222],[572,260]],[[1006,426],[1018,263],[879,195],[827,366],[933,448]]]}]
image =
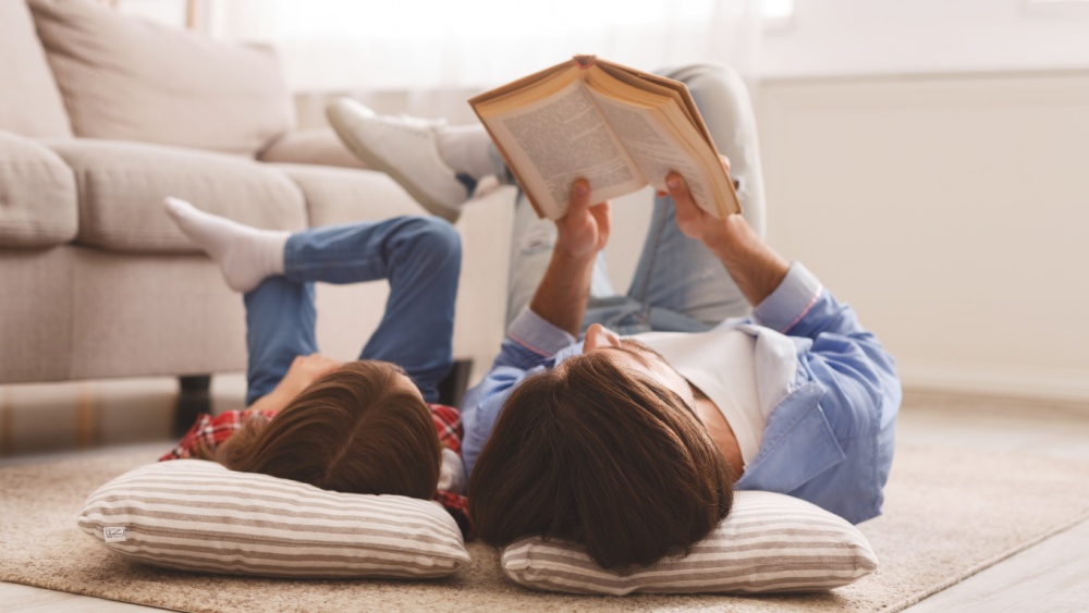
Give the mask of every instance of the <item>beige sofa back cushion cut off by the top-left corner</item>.
[{"label": "beige sofa back cushion cut off by the top-left corner", "polygon": [[0,130],[24,136],[71,136],[34,20],[21,1],[0,2]]}]

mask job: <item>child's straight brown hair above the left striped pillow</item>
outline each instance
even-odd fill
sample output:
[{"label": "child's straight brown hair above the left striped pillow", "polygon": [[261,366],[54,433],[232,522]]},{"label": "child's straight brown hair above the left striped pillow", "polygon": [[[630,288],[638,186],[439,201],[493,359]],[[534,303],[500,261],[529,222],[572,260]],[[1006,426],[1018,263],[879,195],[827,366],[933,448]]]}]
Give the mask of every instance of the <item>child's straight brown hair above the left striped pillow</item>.
[{"label": "child's straight brown hair above the left striped pillow", "polygon": [[326,490],[429,500],[439,482],[439,437],[427,404],[396,383],[402,372],[384,361],[345,364],[274,419],[247,420],[211,459]]}]

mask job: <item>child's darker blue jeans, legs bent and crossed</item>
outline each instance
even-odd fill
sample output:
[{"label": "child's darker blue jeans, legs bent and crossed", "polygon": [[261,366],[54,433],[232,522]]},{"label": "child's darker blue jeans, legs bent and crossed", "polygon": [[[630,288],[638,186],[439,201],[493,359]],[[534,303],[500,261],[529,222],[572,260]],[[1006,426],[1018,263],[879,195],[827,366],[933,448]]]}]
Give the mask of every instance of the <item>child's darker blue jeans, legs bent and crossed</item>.
[{"label": "child's darker blue jeans, legs bent and crossed", "polygon": [[314,283],[387,280],[386,314],[359,359],[400,365],[428,402],[452,364],[454,299],[462,253],[457,232],[433,217],[316,228],[293,234],[284,273],[245,295],[246,403],[268,394],[299,355],[318,351]]}]

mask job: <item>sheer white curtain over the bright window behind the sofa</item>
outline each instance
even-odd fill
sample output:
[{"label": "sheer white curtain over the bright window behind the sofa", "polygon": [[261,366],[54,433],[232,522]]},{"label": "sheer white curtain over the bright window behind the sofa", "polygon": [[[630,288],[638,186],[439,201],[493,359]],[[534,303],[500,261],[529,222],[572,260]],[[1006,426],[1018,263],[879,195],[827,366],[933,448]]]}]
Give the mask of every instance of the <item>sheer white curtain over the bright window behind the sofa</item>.
[{"label": "sheer white curtain over the bright window behind the sofa", "polygon": [[759,0],[204,0],[212,36],[266,41],[307,91],[482,90],[575,53],[751,76]]}]

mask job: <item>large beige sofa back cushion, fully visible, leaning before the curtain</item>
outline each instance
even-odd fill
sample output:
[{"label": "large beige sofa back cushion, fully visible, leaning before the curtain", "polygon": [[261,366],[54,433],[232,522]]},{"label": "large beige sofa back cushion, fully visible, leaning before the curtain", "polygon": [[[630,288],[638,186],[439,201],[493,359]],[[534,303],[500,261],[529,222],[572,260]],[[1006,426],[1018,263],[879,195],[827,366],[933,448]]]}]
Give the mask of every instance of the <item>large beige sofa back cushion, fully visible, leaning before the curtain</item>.
[{"label": "large beige sofa back cushion, fully visible, leaning before the curtain", "polygon": [[267,47],[125,17],[89,0],[27,0],[77,136],[253,156],[294,108]]}]

